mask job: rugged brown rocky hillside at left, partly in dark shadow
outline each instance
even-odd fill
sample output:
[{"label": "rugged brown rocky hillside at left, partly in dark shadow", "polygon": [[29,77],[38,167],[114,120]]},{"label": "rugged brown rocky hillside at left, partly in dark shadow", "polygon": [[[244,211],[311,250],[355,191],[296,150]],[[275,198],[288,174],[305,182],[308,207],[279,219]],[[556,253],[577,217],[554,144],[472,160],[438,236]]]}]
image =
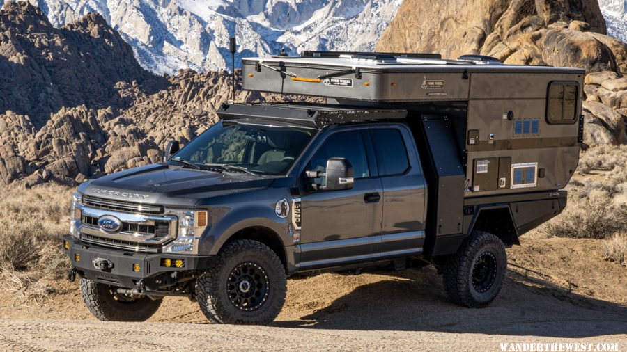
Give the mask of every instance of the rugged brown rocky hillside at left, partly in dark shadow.
[{"label": "rugged brown rocky hillside at left, partly in dark shadow", "polygon": [[[226,71],[156,77],[99,15],[54,29],[28,3],[0,11],[0,186],[84,179],[161,160],[217,121]],[[265,99],[239,93],[239,101]]]}]

